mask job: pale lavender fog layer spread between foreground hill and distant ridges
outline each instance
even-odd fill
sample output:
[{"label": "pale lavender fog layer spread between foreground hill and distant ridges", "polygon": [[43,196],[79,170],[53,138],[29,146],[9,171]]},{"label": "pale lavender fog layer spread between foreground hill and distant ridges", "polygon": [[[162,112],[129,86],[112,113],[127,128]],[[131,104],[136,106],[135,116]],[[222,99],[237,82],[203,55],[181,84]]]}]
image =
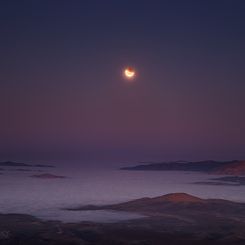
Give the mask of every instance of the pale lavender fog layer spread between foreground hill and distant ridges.
[{"label": "pale lavender fog layer spread between foreground hill and distant ridges", "polygon": [[117,203],[173,192],[245,202],[245,186],[192,184],[216,177],[200,173],[88,170],[76,167],[59,167],[47,169],[46,172],[69,178],[38,179],[30,178],[37,172],[4,171],[0,176],[0,212],[32,214],[63,222],[113,222],[140,216],[110,211],[64,211],[62,208]]}]

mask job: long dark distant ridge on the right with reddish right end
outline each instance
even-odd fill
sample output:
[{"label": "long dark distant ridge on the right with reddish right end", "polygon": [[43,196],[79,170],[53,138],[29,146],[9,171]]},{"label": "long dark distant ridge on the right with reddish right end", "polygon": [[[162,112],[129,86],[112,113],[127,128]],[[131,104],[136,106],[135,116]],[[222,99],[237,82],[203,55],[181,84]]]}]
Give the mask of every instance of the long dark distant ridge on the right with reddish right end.
[{"label": "long dark distant ridge on the right with reddish right end", "polygon": [[142,171],[194,171],[217,175],[245,175],[245,161],[175,161],[160,163],[144,163],[133,167],[123,167],[121,170]]}]

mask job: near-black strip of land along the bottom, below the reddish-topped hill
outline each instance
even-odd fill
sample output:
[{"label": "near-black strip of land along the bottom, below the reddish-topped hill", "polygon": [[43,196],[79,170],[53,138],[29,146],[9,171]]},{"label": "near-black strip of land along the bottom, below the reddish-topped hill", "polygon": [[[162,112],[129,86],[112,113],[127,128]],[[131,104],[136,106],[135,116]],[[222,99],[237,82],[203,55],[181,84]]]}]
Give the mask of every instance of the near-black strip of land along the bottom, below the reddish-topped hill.
[{"label": "near-black strip of land along the bottom, below the reddish-topped hill", "polygon": [[225,221],[212,225],[210,233],[207,234],[197,230],[199,227],[193,225],[186,227],[189,231],[184,232],[181,227],[183,223],[180,222],[178,229],[171,218],[167,220],[169,226],[161,219],[142,219],[114,224],[43,222],[28,215],[18,214],[0,215],[0,219],[0,244],[4,245],[245,244],[245,226]]}]

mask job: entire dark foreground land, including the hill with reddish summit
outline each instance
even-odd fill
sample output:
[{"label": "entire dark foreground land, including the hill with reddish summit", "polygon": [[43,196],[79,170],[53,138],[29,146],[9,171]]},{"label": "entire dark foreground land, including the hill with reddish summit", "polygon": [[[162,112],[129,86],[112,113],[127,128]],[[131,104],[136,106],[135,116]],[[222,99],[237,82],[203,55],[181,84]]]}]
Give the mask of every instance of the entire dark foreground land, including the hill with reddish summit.
[{"label": "entire dark foreground land, including the hill with reddish summit", "polygon": [[245,204],[175,193],[75,210],[97,209],[138,212],[145,218],[107,224],[61,223],[2,214],[0,244],[245,245]]}]

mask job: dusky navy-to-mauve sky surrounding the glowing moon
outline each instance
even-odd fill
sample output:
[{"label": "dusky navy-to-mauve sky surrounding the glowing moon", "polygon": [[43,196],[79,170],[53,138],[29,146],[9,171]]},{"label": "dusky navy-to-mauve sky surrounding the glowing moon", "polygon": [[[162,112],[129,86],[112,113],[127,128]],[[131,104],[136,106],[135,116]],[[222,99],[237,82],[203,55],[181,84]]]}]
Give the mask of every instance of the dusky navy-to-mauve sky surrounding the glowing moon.
[{"label": "dusky navy-to-mauve sky surrounding the glowing moon", "polygon": [[0,159],[245,159],[244,13],[243,0],[2,0]]}]

